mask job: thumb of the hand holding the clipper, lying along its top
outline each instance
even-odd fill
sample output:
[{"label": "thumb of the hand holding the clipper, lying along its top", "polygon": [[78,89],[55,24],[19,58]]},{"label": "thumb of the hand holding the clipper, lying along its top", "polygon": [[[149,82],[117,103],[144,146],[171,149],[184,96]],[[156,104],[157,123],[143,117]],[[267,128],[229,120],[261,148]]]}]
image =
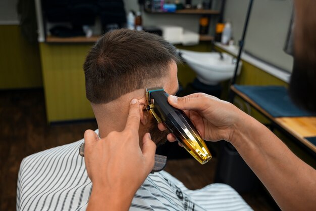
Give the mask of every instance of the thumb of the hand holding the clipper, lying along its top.
[{"label": "thumb of the hand holding the clipper, lying along its top", "polygon": [[168,97],[168,102],[175,108],[180,110],[200,110],[201,102],[198,98],[191,98],[191,97],[176,97],[170,95]]}]

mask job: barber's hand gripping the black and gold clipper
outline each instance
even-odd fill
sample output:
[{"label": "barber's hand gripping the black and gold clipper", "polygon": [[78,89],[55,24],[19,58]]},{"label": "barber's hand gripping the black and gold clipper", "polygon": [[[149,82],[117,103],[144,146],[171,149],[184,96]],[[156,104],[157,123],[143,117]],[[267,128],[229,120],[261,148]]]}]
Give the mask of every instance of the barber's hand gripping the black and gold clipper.
[{"label": "barber's hand gripping the black and gold clipper", "polygon": [[[191,119],[201,137],[206,141],[231,141],[236,124],[242,121],[244,113],[233,104],[204,93],[195,93],[185,97],[169,96],[168,102],[184,112]],[[166,127],[160,123],[160,130]],[[176,141],[173,134],[167,139]]]}]

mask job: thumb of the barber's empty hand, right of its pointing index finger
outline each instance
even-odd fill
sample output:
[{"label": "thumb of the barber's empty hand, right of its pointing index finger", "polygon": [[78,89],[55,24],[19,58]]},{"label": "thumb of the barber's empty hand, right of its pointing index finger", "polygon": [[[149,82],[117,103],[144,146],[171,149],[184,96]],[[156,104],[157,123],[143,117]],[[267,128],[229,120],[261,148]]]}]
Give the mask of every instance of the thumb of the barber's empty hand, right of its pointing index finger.
[{"label": "thumb of the barber's empty hand, right of its pointing index finger", "polygon": [[[146,133],[143,137],[142,153],[145,158],[146,166],[150,172],[154,165],[154,154],[156,152],[156,144],[151,140],[150,134]],[[148,172],[148,173],[149,173]]]}]

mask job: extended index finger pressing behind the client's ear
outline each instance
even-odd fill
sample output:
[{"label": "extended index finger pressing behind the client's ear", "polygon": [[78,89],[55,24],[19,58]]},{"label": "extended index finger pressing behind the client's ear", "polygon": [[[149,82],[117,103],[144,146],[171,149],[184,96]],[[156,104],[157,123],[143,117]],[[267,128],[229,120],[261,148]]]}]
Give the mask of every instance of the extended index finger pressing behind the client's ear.
[{"label": "extended index finger pressing behind the client's ear", "polygon": [[126,121],[126,129],[135,130],[138,132],[140,122],[139,102],[133,99],[129,106],[129,114]]}]

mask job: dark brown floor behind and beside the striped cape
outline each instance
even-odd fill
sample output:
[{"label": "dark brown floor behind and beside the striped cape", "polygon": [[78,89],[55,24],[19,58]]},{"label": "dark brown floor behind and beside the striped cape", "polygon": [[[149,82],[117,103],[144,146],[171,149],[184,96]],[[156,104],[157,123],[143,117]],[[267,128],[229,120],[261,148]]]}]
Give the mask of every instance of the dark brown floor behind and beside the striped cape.
[{"label": "dark brown floor behind and beside the striped cape", "polygon": [[[0,210],[13,211],[21,160],[35,152],[83,138],[95,121],[48,125],[43,90],[0,91]],[[216,158],[205,165],[193,159],[170,160],[166,170],[188,188],[201,188],[214,181]],[[201,174],[202,173],[202,174]],[[207,174],[205,174],[207,173]],[[254,210],[274,210],[265,194],[244,194]]]}]

